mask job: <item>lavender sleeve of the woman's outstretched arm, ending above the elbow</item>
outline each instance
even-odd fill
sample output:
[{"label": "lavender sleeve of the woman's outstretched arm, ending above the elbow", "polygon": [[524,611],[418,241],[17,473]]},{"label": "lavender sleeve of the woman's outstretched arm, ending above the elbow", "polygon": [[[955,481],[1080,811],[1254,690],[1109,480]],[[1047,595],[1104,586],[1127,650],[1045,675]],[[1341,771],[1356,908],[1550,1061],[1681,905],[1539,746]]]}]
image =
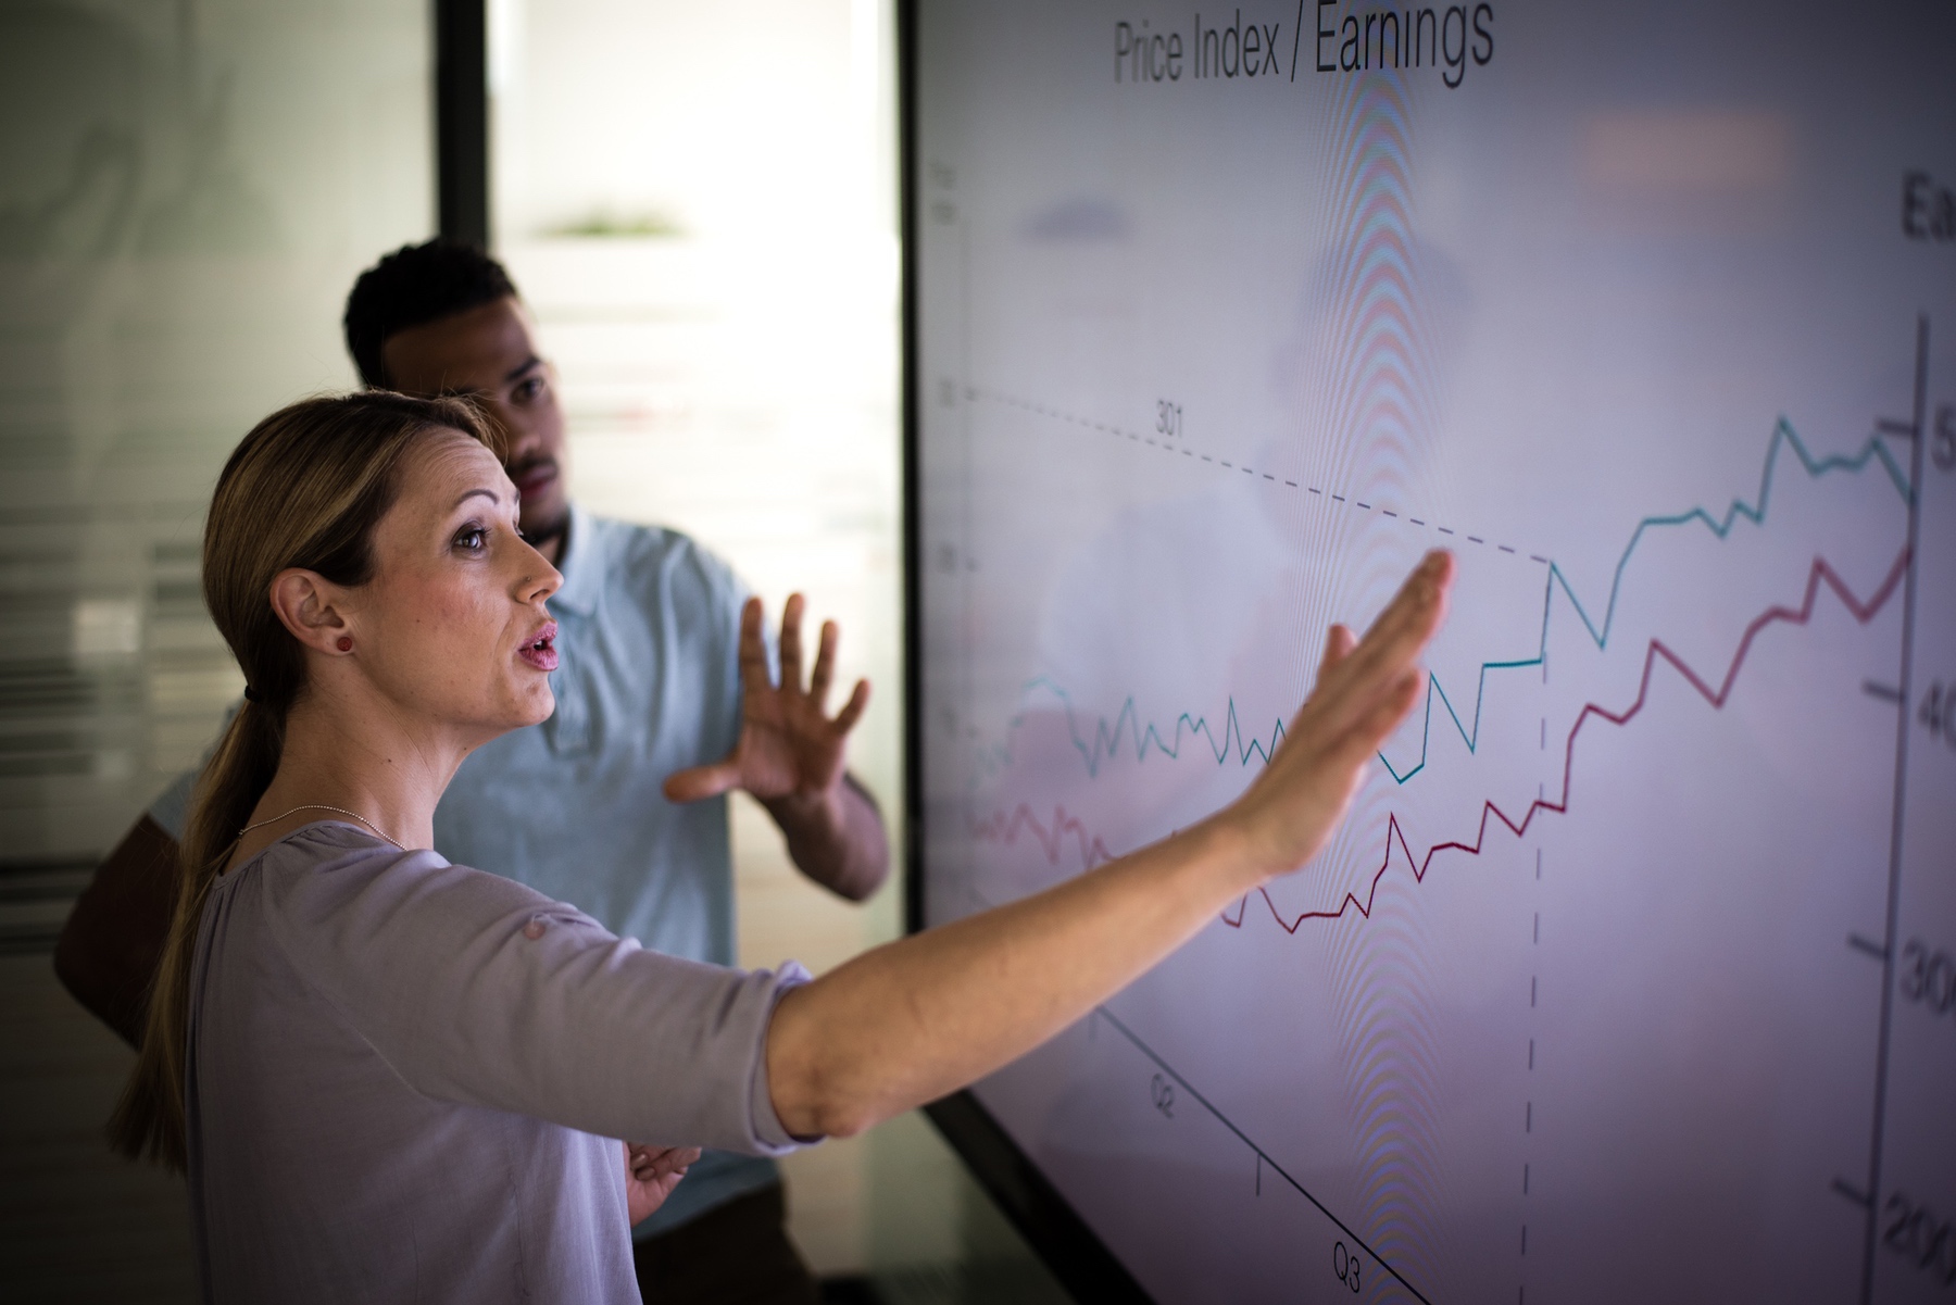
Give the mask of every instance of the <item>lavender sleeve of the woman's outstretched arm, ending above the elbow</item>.
[{"label": "lavender sleeve of the woman's outstretched arm, ending above the elbow", "polygon": [[424,1096],[600,1137],[784,1154],[767,1086],[775,1004],[808,972],[644,951],[518,882],[333,826],[266,890],[282,947]]}]

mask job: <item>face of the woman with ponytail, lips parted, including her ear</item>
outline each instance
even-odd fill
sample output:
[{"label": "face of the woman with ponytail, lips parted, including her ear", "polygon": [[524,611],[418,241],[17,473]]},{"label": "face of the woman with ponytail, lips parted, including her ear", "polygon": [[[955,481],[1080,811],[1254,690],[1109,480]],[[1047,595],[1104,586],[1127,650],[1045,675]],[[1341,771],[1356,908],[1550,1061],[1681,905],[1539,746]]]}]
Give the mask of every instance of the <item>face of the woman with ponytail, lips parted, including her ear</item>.
[{"label": "face of the woman with ponytail, lips parted, including her ear", "polygon": [[548,718],[557,622],[544,601],[563,577],[516,530],[516,487],[456,430],[401,468],[374,530],[374,579],[348,595],[362,671],[391,702],[469,745]]}]

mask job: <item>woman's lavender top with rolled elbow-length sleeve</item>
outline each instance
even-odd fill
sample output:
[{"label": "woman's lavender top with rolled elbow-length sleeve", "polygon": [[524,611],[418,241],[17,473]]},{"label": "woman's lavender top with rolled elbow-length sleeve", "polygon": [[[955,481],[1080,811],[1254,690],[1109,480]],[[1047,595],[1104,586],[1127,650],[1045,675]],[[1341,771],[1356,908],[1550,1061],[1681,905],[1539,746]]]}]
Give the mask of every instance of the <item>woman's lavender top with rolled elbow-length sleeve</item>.
[{"label": "woman's lavender top with rolled elbow-length sleeve", "polygon": [[808,974],[644,951],[509,878],[311,824],[225,875],[190,980],[211,1301],[636,1301],[614,1139],[794,1148]]}]

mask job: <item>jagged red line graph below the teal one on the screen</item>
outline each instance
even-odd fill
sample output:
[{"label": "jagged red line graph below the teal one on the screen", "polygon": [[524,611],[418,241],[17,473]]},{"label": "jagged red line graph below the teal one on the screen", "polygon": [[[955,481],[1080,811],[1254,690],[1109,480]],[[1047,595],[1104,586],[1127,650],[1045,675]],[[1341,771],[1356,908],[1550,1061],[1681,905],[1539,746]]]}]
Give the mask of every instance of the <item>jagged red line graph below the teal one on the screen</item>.
[{"label": "jagged red line graph below the teal one on the screen", "polygon": [[[1753,640],[1756,640],[1758,634],[1772,624],[1790,624],[1790,626],[1807,624],[1813,618],[1813,605],[1819,599],[1823,583],[1827,585],[1827,589],[1835,593],[1837,599],[1841,599],[1841,605],[1848,610],[1848,614],[1854,616],[1858,624],[1868,624],[1870,620],[1874,620],[1876,612],[1880,612],[1882,607],[1886,607],[1888,601],[1895,595],[1895,589],[1901,585],[1901,579],[1903,575],[1907,575],[1907,569],[1909,569],[1909,550],[1903,548],[1901,554],[1895,558],[1895,563],[1888,569],[1888,577],[1882,581],[1882,585],[1874,591],[1874,595],[1862,601],[1854,597],[1854,591],[1848,589],[1846,581],[1841,579],[1841,573],[1835,571],[1825,558],[1815,558],[1813,565],[1807,569],[1807,589],[1805,595],[1801,597],[1800,607],[1798,608],[1772,607],[1755,616],[1753,622],[1745,628],[1745,636],[1739,640],[1739,650],[1733,653],[1731,665],[1725,669],[1725,677],[1719,681],[1717,689],[1713,689],[1702,675],[1698,675],[1698,671],[1686,665],[1684,659],[1678,657],[1678,653],[1670,652],[1670,648],[1667,648],[1663,640],[1651,640],[1649,648],[1643,653],[1643,679],[1637,685],[1637,698],[1620,712],[1612,712],[1602,704],[1588,702],[1577,714],[1577,722],[1569,728],[1569,742],[1563,745],[1563,792],[1559,798],[1555,800],[1535,798],[1534,802],[1528,804],[1528,810],[1522,812],[1520,820],[1510,818],[1492,800],[1483,802],[1481,828],[1475,832],[1473,843],[1463,843],[1457,839],[1445,843],[1434,843],[1432,847],[1426,849],[1424,857],[1412,855],[1412,847],[1410,843],[1406,843],[1406,833],[1399,824],[1399,816],[1387,814],[1385,857],[1379,863],[1377,873],[1373,873],[1371,882],[1367,884],[1363,902],[1357,898],[1357,894],[1346,892],[1344,900],[1338,902],[1336,910],[1303,912],[1295,920],[1285,920],[1283,912],[1277,910],[1277,904],[1271,900],[1266,888],[1258,888],[1256,892],[1264,898],[1264,906],[1269,908],[1271,920],[1275,920],[1285,933],[1297,933],[1297,929],[1301,929],[1307,920],[1340,920],[1354,910],[1369,920],[1373,900],[1379,894],[1379,880],[1383,880],[1385,873],[1393,869],[1395,841],[1399,843],[1400,853],[1404,853],[1406,865],[1412,869],[1412,880],[1424,882],[1426,871],[1432,867],[1434,857],[1438,857],[1444,851],[1463,851],[1469,857],[1479,857],[1483,845],[1487,843],[1489,818],[1498,820],[1502,826],[1508,828],[1510,833],[1522,837],[1528,833],[1528,828],[1534,824],[1539,812],[1555,812],[1557,816],[1567,814],[1571,775],[1575,771],[1577,736],[1582,734],[1582,726],[1588,724],[1590,718],[1606,720],[1614,726],[1623,726],[1635,720],[1637,712],[1641,712],[1645,702],[1649,700],[1651,673],[1657,669],[1659,657],[1668,661],[1670,667],[1676,669],[1678,675],[1682,675],[1684,681],[1692,689],[1696,689],[1698,695],[1706,702],[1710,702],[1713,710],[1719,710],[1731,697],[1731,687],[1739,679],[1739,669],[1745,665],[1747,653],[1753,650]],[[976,822],[972,828],[974,837],[984,841],[1000,841],[1007,845],[1015,843],[1021,832],[1031,832],[1033,837],[1039,841],[1041,849],[1046,853],[1046,859],[1054,865],[1058,865],[1060,849],[1068,837],[1078,841],[1080,859],[1086,869],[1091,869],[1101,861],[1113,861],[1113,853],[1099,839],[1099,835],[1089,832],[1076,816],[1066,814],[1066,808],[1062,806],[1052,808],[1052,826],[1041,824],[1039,816],[1035,816],[1033,810],[1021,802],[1019,808],[1011,812],[1011,816],[996,812],[988,820]],[[1226,923],[1232,929],[1240,929],[1244,925],[1248,908],[1250,908],[1250,898],[1244,896],[1236,904],[1234,918],[1230,918],[1228,912],[1222,914],[1222,923]]]}]

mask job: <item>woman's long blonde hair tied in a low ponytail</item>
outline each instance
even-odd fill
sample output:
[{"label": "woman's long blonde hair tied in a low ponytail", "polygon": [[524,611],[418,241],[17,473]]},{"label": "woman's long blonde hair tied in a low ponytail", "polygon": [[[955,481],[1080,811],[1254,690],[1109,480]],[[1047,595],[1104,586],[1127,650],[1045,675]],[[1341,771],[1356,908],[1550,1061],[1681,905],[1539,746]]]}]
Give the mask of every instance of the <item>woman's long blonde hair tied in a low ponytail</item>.
[{"label": "woman's long blonde hair tied in a low ponytail", "polygon": [[272,579],[303,567],[334,585],[368,583],[374,526],[399,495],[409,450],[436,430],[501,452],[495,430],[464,399],[364,391],[272,413],[217,477],[203,524],[203,603],[244,671],[246,693],[192,792],[176,912],[143,1047],[110,1117],[110,1143],[129,1158],[172,1170],[188,1164],[184,1074],[198,923],[239,830],[278,773],[286,716],[305,693],[305,655],[272,610]]}]

